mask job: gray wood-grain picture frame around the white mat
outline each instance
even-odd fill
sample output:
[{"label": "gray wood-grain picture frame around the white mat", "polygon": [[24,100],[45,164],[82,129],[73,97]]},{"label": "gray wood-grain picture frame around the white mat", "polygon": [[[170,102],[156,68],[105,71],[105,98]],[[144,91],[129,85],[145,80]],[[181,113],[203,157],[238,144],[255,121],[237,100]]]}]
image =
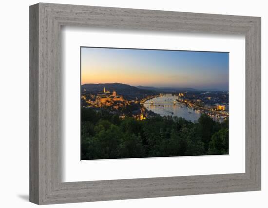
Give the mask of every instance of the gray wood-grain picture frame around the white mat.
[{"label": "gray wood-grain picture frame around the white mat", "polygon": [[[246,172],[62,183],[60,28],[65,25],[245,35]],[[261,18],[49,3],[30,6],[31,202],[56,204],[260,189]]]}]

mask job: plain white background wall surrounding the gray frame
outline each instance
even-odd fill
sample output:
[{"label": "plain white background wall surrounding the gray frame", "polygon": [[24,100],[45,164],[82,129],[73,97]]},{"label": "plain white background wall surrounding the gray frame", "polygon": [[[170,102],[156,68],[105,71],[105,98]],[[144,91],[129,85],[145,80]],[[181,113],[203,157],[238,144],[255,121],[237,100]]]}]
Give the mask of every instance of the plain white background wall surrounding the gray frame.
[{"label": "plain white background wall surrounding the gray frame", "polygon": [[[1,1],[0,9],[0,206],[31,208],[29,197],[29,5]],[[262,191],[53,205],[57,208],[267,208],[268,13],[265,0],[47,0],[95,6],[156,9],[262,17]]]}]

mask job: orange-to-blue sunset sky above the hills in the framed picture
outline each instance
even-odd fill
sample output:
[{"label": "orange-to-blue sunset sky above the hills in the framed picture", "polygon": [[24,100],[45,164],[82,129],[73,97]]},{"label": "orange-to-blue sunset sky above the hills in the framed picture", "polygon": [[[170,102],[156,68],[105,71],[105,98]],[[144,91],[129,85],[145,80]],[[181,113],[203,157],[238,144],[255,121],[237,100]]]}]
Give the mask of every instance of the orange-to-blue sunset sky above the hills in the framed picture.
[{"label": "orange-to-blue sunset sky above the hills in the framed picture", "polygon": [[81,47],[81,84],[228,90],[229,53]]}]

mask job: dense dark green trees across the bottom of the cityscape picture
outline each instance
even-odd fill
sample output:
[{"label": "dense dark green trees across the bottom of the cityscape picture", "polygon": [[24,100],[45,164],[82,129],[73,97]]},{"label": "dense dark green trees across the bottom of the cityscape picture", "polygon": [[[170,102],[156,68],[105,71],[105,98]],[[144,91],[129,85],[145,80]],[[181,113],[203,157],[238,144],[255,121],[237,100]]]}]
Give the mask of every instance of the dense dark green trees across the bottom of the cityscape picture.
[{"label": "dense dark green trees across the bottom of the cityscape picture", "polygon": [[176,116],[137,121],[107,111],[81,112],[81,157],[88,159],[228,154],[229,126],[202,114],[192,123]]}]

